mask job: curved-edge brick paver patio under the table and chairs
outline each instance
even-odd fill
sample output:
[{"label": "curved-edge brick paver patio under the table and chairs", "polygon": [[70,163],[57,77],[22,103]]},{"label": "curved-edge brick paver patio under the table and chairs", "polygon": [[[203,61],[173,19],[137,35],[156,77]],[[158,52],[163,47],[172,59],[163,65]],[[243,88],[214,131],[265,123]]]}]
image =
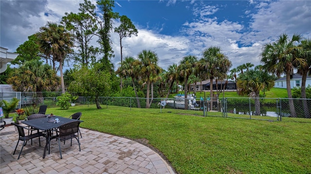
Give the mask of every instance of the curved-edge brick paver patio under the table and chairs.
[{"label": "curved-edge brick paver patio under the table and chairs", "polygon": [[18,134],[14,126],[0,131],[1,174],[174,174],[172,168],[155,151],[138,142],[80,128],[81,151],[73,139],[62,144],[60,158],[58,142],[51,142],[51,154],[43,159],[45,138],[33,145],[27,142],[17,160],[22,142],[13,155]]}]

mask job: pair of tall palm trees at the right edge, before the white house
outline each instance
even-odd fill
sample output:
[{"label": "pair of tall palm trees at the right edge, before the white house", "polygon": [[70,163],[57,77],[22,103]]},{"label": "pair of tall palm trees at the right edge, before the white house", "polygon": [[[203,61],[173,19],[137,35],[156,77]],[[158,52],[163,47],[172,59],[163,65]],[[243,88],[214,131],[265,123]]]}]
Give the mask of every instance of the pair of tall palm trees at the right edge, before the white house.
[{"label": "pair of tall palm trees at the right edge, before the white house", "polygon": [[[302,75],[301,97],[306,98],[306,78],[311,74],[311,41],[302,40],[301,35],[294,34],[290,38],[287,34],[281,34],[278,40],[273,43],[267,43],[261,53],[262,67],[267,72],[276,74],[280,77],[286,75],[286,88],[289,98],[289,107],[291,116],[296,117],[294,101],[291,92],[290,79],[294,74],[294,69]],[[307,101],[304,101],[304,111],[306,117],[310,117],[307,107]]]}]

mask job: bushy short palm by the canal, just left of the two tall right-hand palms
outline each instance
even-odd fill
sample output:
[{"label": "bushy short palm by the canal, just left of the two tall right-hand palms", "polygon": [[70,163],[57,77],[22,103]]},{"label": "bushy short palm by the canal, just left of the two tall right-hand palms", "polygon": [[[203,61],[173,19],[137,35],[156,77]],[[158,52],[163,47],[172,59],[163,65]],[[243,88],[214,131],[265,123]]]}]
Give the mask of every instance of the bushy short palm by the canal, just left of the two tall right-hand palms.
[{"label": "bushy short palm by the canal, just left of the two tall right-hand palms", "polygon": [[239,76],[238,94],[255,98],[255,115],[260,115],[259,92],[274,86],[273,77],[265,71],[249,69]]}]

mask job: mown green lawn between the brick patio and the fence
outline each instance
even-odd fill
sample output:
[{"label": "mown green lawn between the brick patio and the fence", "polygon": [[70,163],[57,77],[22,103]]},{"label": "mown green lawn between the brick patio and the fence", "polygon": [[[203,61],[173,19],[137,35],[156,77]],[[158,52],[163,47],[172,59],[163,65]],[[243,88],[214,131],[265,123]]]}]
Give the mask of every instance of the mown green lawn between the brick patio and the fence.
[{"label": "mown green lawn between the brick patio and the fence", "polygon": [[102,107],[48,108],[46,113],[69,117],[81,111],[81,127],[147,139],[179,174],[311,173],[311,119],[271,122],[202,117],[198,111]]}]

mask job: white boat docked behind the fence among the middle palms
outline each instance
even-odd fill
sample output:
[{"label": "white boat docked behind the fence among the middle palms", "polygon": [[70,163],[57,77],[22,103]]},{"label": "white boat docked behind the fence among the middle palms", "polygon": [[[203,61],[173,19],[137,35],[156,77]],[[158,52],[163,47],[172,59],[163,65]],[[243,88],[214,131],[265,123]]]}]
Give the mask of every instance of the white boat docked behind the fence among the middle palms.
[{"label": "white boat docked behind the fence among the middle palms", "polygon": [[[195,100],[196,96],[194,94],[188,95],[187,98],[188,98],[188,108],[190,110],[199,109],[195,108],[198,107],[199,105],[196,103]],[[174,109],[185,109],[185,95],[177,94],[174,96],[173,100],[167,100],[166,103],[168,106]]]}]

